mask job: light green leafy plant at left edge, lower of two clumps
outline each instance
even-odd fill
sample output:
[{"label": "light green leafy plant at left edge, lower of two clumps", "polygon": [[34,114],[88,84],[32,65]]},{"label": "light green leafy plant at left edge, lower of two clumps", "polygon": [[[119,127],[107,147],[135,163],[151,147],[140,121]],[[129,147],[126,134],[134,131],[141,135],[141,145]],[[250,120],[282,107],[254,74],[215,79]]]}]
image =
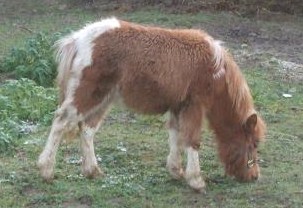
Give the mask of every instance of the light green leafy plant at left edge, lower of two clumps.
[{"label": "light green leafy plant at left edge, lower of two clumps", "polygon": [[0,150],[7,150],[26,132],[26,126],[49,124],[56,108],[54,88],[22,78],[0,85]]}]

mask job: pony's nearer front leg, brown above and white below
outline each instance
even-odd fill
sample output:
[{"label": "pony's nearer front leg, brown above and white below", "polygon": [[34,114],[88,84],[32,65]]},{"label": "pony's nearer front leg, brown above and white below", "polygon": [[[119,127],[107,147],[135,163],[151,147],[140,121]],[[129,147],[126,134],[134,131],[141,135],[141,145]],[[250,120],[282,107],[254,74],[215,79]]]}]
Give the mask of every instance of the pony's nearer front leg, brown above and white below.
[{"label": "pony's nearer front leg, brown above and white below", "polygon": [[184,107],[179,114],[180,137],[184,139],[187,153],[185,179],[188,185],[196,191],[201,191],[205,187],[205,182],[200,173],[198,153],[202,117],[202,107],[194,103]]}]

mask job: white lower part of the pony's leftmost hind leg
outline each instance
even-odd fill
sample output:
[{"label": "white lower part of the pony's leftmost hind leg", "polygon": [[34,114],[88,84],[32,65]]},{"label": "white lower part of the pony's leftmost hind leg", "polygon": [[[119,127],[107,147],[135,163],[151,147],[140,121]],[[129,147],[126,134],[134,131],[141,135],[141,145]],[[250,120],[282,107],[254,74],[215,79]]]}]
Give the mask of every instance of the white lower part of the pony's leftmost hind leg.
[{"label": "white lower part of the pony's leftmost hind leg", "polygon": [[53,179],[55,157],[60,141],[66,129],[77,128],[78,119],[77,111],[70,103],[63,103],[57,110],[46,145],[38,160],[40,174],[44,180],[51,181]]}]

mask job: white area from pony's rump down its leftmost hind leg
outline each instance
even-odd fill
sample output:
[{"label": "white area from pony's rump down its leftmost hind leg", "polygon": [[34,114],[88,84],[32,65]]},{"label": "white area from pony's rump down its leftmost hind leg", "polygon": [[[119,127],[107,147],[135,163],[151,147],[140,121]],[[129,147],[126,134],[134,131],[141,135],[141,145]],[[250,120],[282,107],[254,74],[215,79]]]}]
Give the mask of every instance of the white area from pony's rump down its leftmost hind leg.
[{"label": "white area from pony's rump down its leftmost hind leg", "polygon": [[[55,156],[64,132],[66,129],[73,129],[79,121],[83,120],[81,115],[77,115],[72,103],[83,69],[92,64],[94,40],[102,33],[119,27],[120,22],[116,18],[104,19],[87,25],[55,44],[58,62],[57,79],[64,92],[64,101],[57,111],[46,146],[38,160],[41,175],[45,180],[51,180],[53,177]],[[90,143],[87,145],[92,146]]]}]

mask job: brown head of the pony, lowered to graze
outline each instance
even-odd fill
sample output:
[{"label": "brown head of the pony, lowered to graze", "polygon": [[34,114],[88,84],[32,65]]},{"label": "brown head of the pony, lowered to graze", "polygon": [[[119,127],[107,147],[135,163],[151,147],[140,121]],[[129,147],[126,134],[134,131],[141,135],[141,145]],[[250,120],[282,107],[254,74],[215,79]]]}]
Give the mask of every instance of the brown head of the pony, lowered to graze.
[{"label": "brown head of the pony, lowered to graze", "polygon": [[264,122],[254,113],[231,134],[233,138],[219,142],[219,154],[227,175],[244,182],[259,178],[257,148],[264,132]]}]

